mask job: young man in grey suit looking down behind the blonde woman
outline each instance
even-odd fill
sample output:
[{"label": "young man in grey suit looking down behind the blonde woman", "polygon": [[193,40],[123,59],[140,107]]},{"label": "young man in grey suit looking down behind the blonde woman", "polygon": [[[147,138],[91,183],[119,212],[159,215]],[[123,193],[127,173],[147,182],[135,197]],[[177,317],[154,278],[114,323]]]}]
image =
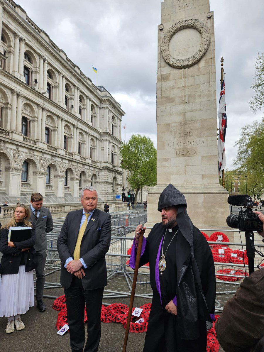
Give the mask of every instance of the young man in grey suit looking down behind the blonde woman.
[{"label": "young man in grey suit looking down behind the blonde woman", "polygon": [[45,284],[44,269],[46,263],[46,249],[47,237],[46,234],[53,229],[53,221],[50,210],[44,208],[43,196],[40,193],[32,193],[30,199],[30,221],[32,221],[36,228],[36,243],[34,249],[36,250],[37,266],[36,266],[36,298],[37,308],[39,312],[46,310],[46,304],[42,301],[43,290]]}]

